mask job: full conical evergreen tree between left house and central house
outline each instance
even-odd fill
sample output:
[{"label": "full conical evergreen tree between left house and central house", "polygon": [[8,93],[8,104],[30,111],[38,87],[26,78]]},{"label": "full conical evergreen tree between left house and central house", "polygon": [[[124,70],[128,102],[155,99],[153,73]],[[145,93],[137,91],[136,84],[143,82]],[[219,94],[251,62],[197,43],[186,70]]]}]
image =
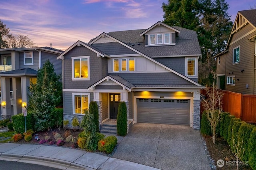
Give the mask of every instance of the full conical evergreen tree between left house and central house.
[{"label": "full conical evergreen tree between left house and central house", "polygon": [[61,99],[58,95],[60,75],[54,72],[54,65],[46,61],[42,69],[38,69],[37,80],[31,84],[28,111],[34,113],[35,129],[46,130],[54,125],[53,111]]}]

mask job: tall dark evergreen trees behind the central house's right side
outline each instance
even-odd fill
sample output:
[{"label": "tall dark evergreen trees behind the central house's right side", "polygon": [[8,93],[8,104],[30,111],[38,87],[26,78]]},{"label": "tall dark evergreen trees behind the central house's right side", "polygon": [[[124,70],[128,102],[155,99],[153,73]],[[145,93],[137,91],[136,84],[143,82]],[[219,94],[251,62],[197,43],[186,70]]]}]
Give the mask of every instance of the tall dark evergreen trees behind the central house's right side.
[{"label": "tall dark evergreen trees behind the central house's right side", "polygon": [[216,69],[212,57],[224,50],[232,29],[228,4],[225,0],[168,0],[162,9],[165,24],[197,32],[202,51],[198,63],[199,83],[211,85],[210,73]]}]

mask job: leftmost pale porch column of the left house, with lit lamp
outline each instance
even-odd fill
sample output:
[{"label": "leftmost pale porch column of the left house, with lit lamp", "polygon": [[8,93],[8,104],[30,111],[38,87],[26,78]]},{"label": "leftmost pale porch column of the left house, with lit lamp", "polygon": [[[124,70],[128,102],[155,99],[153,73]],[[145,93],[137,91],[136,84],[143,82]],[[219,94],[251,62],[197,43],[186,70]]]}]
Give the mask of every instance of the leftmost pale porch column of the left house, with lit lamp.
[{"label": "leftmost pale porch column of the left house, with lit lamp", "polygon": [[11,96],[10,96],[10,78],[1,77],[1,97],[2,102],[2,119],[9,119],[12,116],[11,113]]}]

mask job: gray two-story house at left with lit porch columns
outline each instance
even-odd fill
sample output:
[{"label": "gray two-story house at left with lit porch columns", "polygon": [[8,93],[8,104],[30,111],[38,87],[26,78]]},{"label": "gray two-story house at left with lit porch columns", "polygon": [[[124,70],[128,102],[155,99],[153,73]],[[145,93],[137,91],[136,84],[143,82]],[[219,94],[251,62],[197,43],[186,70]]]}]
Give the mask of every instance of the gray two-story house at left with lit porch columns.
[{"label": "gray two-story house at left with lit porch columns", "polygon": [[63,51],[51,47],[0,49],[0,97],[2,119],[22,113],[28,103],[28,87],[36,82],[37,70],[46,60],[57,74],[62,63],[56,57]]}]

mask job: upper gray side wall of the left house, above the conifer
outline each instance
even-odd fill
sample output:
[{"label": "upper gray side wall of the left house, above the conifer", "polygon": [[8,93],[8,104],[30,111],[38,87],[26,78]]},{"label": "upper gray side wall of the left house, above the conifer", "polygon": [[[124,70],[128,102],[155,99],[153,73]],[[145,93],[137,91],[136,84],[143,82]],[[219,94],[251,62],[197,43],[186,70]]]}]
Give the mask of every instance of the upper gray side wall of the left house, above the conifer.
[{"label": "upper gray side wall of the left house, above the conifer", "polygon": [[41,67],[44,66],[44,63],[49,60],[51,63],[53,63],[54,65],[54,71],[57,74],[62,74],[62,64],[61,64],[61,60],[60,59],[56,59],[58,57],[58,54],[54,54],[54,53],[46,53],[44,51],[42,51],[41,53]]}]

